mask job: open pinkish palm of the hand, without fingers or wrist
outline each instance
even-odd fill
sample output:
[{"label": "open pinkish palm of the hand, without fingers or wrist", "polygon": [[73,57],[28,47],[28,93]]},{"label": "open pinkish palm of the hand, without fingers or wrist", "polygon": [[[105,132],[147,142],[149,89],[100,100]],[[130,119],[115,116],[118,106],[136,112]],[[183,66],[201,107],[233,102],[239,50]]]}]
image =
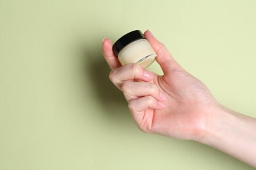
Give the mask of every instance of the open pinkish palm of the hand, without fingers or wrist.
[{"label": "open pinkish palm of the hand, without fingers or wrist", "polygon": [[165,92],[166,107],[145,110],[140,129],[179,139],[191,139],[198,135],[198,129],[205,124],[207,116],[201,114],[199,109],[206,110],[215,103],[209,90],[181,67],[157,77],[154,82]]}]

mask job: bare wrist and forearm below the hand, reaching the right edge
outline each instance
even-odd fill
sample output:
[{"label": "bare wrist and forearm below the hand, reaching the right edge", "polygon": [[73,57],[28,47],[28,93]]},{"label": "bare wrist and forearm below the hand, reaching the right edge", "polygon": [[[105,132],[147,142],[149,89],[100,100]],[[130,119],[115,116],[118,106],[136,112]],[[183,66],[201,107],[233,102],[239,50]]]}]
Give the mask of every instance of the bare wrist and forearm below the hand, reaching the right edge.
[{"label": "bare wrist and forearm below the hand, reaching the right edge", "polygon": [[256,167],[256,120],[226,107],[209,115],[207,126],[198,142]]}]

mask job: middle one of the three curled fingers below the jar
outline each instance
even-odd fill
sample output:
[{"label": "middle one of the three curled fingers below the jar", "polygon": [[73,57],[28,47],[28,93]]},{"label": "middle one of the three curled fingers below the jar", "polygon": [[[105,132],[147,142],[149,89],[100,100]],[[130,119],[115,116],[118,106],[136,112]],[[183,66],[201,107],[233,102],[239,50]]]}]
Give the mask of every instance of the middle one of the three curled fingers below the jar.
[{"label": "middle one of the three curled fingers below the jar", "polygon": [[164,93],[160,91],[156,84],[150,82],[125,82],[121,86],[121,90],[127,101],[147,95],[154,97],[158,101],[165,100]]}]

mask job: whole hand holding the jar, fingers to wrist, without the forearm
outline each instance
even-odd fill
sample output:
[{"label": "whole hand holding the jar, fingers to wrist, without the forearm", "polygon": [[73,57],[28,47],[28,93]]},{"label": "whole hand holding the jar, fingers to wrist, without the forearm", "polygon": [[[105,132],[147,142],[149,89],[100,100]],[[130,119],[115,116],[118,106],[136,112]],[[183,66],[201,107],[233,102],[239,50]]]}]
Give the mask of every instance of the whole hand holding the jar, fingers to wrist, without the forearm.
[{"label": "whole hand holding the jar, fingers to wrist, without the forearm", "polygon": [[219,109],[206,86],[186,72],[150,31],[144,33],[158,57],[163,76],[138,64],[123,65],[112,52],[112,42],[102,41],[102,52],[112,69],[110,80],[125,95],[129,110],[142,131],[178,139],[200,140],[209,115]]}]

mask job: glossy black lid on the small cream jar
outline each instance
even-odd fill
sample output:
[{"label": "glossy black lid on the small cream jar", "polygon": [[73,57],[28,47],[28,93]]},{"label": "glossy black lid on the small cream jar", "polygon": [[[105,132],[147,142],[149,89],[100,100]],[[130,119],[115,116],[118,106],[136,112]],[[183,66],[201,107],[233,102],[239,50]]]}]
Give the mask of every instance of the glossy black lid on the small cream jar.
[{"label": "glossy black lid on the small cream jar", "polygon": [[138,39],[145,39],[144,35],[140,30],[131,31],[120,39],[118,39],[115,44],[112,46],[112,50],[116,56],[118,56],[118,52],[123,49],[123,47],[127,46],[127,44],[137,41]]}]

